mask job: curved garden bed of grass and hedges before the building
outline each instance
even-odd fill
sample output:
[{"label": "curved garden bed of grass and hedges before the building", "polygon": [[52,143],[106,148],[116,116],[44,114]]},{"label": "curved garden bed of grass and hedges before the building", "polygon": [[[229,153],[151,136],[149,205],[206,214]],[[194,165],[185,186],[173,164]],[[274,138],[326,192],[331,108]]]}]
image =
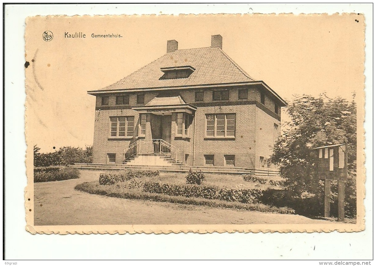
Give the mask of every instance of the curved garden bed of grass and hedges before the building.
[{"label": "curved garden bed of grass and hedges before the building", "polygon": [[[131,172],[102,173],[99,181],[79,184],[75,189],[116,198],[271,213],[294,213],[291,208],[269,206],[260,202],[262,191],[277,188],[275,185],[271,185],[267,179],[253,178],[252,182],[244,181],[243,176],[239,175],[206,174],[206,180],[201,185],[197,185],[186,184],[186,174],[183,173],[160,173],[157,176],[135,177],[135,172],[132,172],[132,175],[127,177],[129,173]],[[120,178],[116,181],[111,178],[111,176],[119,176],[119,174],[123,175],[125,179]],[[270,180],[276,181],[276,179],[278,178],[274,177]],[[257,182],[258,180],[261,183]]]}]

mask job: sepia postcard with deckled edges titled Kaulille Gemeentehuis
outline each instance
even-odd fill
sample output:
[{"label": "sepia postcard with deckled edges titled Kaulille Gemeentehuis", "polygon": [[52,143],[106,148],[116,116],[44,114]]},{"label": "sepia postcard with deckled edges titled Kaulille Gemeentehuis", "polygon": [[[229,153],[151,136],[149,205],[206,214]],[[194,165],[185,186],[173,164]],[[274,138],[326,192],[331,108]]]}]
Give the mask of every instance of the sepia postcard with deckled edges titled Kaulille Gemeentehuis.
[{"label": "sepia postcard with deckled edges titled Kaulille Gemeentehuis", "polygon": [[358,13],[26,18],[26,230],[364,230],[364,34]]}]

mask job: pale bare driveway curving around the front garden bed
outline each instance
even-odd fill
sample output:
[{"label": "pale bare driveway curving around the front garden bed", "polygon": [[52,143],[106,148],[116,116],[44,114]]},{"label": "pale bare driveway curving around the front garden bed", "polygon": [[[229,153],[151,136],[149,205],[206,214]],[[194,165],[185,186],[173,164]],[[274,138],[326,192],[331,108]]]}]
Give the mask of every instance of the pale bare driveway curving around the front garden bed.
[{"label": "pale bare driveway curving around the front garden bed", "polygon": [[98,180],[99,172],[80,172],[79,179],[34,184],[35,225],[332,223],[292,214],[92,195],[74,190],[74,187]]}]

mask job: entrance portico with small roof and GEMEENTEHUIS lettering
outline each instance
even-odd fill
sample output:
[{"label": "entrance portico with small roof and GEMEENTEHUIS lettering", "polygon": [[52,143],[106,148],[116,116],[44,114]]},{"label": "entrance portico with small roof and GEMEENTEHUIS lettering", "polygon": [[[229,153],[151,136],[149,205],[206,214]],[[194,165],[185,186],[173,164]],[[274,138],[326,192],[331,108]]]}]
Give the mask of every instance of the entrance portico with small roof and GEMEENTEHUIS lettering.
[{"label": "entrance portico with small roof and GEMEENTEHUIS lettering", "polygon": [[[184,161],[190,149],[186,140],[196,107],[180,96],[155,97],[143,106],[132,106],[139,113],[138,141],[125,152],[124,160],[135,154],[170,154]],[[182,143],[180,143],[182,142]],[[181,157],[181,158],[180,158]]]}]

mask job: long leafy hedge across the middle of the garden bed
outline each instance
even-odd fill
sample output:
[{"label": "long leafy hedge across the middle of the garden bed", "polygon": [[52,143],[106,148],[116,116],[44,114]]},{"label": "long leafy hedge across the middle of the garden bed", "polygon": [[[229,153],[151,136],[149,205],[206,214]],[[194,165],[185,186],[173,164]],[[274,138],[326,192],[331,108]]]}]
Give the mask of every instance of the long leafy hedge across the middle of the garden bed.
[{"label": "long leafy hedge across the middle of the garden bed", "polygon": [[143,191],[149,193],[165,194],[170,196],[183,196],[186,198],[218,199],[221,201],[257,203],[262,196],[259,189],[233,189],[226,187],[201,186],[201,185],[174,185],[159,182],[146,182]]}]

